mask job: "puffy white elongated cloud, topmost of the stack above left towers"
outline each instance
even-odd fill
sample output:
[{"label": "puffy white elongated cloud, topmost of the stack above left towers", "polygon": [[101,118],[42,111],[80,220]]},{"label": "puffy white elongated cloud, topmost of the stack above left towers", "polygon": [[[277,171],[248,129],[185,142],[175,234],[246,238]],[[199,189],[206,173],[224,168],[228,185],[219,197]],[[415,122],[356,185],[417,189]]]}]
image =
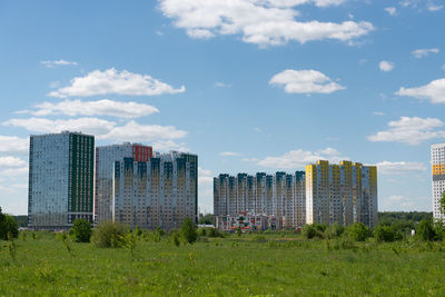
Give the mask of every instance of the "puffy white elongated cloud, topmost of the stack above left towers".
[{"label": "puffy white elongated cloud, topmost of the stack above left towers", "polygon": [[108,93],[154,96],[184,92],[185,90],[184,86],[180,89],[174,89],[170,85],[148,75],[132,73],[127,70],[119,72],[115,68],[110,68],[105,71],[95,70],[85,77],[73,78],[70,86],[51,91],[49,96],[59,98]]}]

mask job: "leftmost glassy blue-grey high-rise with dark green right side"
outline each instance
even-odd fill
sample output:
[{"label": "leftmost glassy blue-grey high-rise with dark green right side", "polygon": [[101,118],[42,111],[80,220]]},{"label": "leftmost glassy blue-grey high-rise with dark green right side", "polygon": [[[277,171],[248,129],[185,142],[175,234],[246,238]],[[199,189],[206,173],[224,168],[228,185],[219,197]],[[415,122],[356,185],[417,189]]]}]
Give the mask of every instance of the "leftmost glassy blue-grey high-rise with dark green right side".
[{"label": "leftmost glassy blue-grey high-rise with dark green right side", "polygon": [[67,229],[92,222],[95,137],[61,132],[30,137],[28,224]]}]

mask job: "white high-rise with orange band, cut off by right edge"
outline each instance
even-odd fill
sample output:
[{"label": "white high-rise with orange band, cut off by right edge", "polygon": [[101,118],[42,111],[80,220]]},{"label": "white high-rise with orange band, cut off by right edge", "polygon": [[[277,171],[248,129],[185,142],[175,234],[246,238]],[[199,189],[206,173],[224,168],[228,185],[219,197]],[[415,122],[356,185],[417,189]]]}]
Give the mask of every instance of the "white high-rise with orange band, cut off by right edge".
[{"label": "white high-rise with orange band, cut off by right edge", "polygon": [[441,198],[445,192],[445,143],[436,143],[431,147],[432,174],[433,174],[433,217],[445,220],[441,212]]}]

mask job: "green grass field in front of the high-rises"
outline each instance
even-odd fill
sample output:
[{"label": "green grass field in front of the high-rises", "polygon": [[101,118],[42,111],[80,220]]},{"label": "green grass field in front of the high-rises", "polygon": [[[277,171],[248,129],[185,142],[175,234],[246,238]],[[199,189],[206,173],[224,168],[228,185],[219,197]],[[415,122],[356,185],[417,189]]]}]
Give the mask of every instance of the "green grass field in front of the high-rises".
[{"label": "green grass field in front of the high-rises", "polygon": [[[372,240],[372,239],[370,239]],[[0,296],[444,296],[445,246],[233,235],[176,247],[138,239],[123,248],[51,234],[0,241]]]}]

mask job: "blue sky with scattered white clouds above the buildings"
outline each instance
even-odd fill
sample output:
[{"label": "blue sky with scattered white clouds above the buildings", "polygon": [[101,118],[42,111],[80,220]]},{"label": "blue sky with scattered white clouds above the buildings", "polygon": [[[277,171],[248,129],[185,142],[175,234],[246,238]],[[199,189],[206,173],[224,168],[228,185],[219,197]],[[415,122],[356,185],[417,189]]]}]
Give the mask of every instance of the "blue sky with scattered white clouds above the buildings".
[{"label": "blue sky with scattered white clouds above the buildings", "polygon": [[379,210],[432,209],[445,141],[438,0],[0,2],[0,206],[27,214],[28,137],[77,130],[221,172],[378,166]]}]

